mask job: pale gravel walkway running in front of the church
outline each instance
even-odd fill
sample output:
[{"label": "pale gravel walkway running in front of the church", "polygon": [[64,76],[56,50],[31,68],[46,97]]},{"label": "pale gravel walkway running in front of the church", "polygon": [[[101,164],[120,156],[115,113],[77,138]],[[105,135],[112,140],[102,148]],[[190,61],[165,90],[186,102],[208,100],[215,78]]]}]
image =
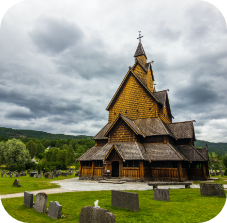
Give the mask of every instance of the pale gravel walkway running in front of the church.
[{"label": "pale gravel walkway running in front of the church", "polygon": [[[206,181],[207,182],[207,181]],[[212,181],[209,181],[212,182]],[[61,186],[61,188],[44,189],[32,191],[34,195],[44,192],[46,194],[75,192],[75,191],[101,191],[101,190],[153,190],[152,186],[148,186],[148,182],[126,182],[124,184],[98,183],[94,180],[79,180],[78,177],[65,180],[53,181]],[[191,188],[199,188],[199,184],[190,185]],[[184,185],[158,186],[161,189],[180,189],[185,188]],[[224,185],[227,189],[227,185]],[[31,191],[29,191],[31,192]],[[24,193],[0,195],[0,200],[4,198],[23,197]]]}]

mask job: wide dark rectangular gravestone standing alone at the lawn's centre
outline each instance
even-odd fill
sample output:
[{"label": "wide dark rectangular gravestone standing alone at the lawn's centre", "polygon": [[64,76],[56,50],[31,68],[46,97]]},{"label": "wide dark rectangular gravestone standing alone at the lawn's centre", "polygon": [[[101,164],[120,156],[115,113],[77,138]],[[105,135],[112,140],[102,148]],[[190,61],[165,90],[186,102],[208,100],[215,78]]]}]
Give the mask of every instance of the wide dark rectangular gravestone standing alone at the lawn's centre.
[{"label": "wide dark rectangular gravestone standing alone at the lawn's centre", "polygon": [[139,196],[137,193],[112,190],[111,205],[113,207],[139,211]]}]

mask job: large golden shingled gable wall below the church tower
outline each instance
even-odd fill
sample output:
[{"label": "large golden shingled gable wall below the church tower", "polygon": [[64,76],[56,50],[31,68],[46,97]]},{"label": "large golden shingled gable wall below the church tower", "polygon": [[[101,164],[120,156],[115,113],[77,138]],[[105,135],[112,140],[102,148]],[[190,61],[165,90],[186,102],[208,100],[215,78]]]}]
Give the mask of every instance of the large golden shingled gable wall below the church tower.
[{"label": "large golden shingled gable wall below the church tower", "polygon": [[151,94],[134,75],[129,74],[108,107],[109,122],[113,122],[119,113],[132,120],[156,117],[158,102]]}]

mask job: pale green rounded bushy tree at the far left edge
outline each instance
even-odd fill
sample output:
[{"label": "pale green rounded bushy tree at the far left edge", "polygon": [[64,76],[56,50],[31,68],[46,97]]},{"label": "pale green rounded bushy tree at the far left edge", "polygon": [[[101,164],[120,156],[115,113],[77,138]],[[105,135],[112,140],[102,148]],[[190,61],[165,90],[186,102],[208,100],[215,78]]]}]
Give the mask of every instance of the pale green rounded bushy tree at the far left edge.
[{"label": "pale green rounded bushy tree at the far left edge", "polygon": [[25,164],[31,162],[29,151],[19,139],[8,140],[5,145],[0,143],[0,155],[4,164]]}]

